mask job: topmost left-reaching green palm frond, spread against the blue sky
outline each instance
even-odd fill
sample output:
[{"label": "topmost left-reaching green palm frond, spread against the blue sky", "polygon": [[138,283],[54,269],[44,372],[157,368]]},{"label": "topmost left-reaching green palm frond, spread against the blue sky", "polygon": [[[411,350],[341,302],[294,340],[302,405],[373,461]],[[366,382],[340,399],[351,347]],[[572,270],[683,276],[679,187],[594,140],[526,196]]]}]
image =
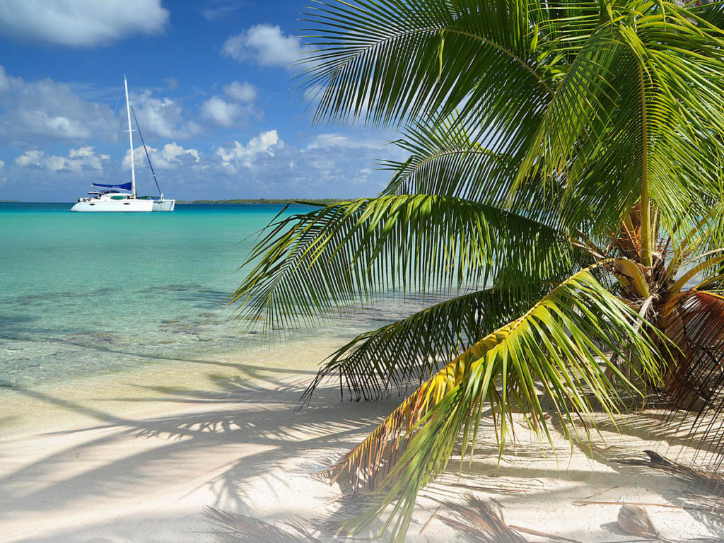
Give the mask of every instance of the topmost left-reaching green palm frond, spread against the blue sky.
[{"label": "topmost left-reaching green palm frond, spread against the blue sky", "polygon": [[308,15],[313,52],[300,78],[320,95],[316,119],[390,123],[449,114],[473,90],[476,104],[495,116],[502,104],[539,101],[550,86],[531,48],[531,10],[525,1],[511,4],[358,0],[319,7]]}]

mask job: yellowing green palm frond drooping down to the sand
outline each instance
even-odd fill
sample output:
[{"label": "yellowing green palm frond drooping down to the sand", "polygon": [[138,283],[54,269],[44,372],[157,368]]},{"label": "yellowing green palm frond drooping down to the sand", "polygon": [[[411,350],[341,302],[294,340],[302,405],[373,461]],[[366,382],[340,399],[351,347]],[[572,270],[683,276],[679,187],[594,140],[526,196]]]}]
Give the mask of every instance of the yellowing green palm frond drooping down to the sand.
[{"label": "yellowing green palm frond drooping down to the sand", "polygon": [[603,349],[620,355],[626,350],[647,379],[660,381],[657,350],[639,333],[637,319],[586,269],[523,316],[471,345],[332,468],[337,477],[350,473],[358,484],[382,488],[379,500],[348,529],[368,524],[394,503],[384,527],[392,530],[392,541],[403,541],[418,490],[445,468],[461,432],[463,457],[472,453],[486,407],[501,453],[513,408],[520,409],[542,442],[552,439],[541,391],[552,400],[569,439],[578,436],[576,420],[584,423],[586,434],[596,426],[589,394],[615,420],[622,402],[605,368],[636,388]]}]

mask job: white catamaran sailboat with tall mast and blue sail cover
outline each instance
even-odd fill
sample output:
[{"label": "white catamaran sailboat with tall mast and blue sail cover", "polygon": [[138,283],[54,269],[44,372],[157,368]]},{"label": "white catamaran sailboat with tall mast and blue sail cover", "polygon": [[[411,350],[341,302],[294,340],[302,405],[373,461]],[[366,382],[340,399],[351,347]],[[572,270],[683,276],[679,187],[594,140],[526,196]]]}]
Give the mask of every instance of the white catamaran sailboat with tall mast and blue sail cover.
[{"label": "white catamaran sailboat with tall mast and blue sail cover", "polygon": [[[135,113],[133,112],[130,103],[128,101],[128,82],[126,77],[123,77],[123,86],[126,90],[126,113],[128,117],[128,140],[131,146],[131,180],[125,183],[119,183],[117,185],[104,185],[101,183],[93,183],[93,188],[101,190],[91,190],[86,198],[78,198],[77,203],[72,206],[70,211],[173,211],[176,205],[175,200],[168,200],[164,198],[164,193],[161,193],[159,188],[159,180],[156,179],[156,172],[153,172],[153,166],[151,166],[151,157],[148,156],[148,149],[146,143],[143,141],[143,135],[140,133],[138,128],[138,120],[136,120],[136,127],[138,128],[138,135],[140,135],[141,143],[143,143],[143,150],[146,151],[146,159],[148,159],[148,166],[151,167],[151,174],[153,174],[153,180],[156,181],[156,188],[159,189],[160,197],[152,196],[138,196],[136,195],[135,188],[135,163],[133,161],[133,130],[131,127],[131,114],[133,113],[133,119],[135,119]],[[125,190],[127,192],[122,192]]]}]

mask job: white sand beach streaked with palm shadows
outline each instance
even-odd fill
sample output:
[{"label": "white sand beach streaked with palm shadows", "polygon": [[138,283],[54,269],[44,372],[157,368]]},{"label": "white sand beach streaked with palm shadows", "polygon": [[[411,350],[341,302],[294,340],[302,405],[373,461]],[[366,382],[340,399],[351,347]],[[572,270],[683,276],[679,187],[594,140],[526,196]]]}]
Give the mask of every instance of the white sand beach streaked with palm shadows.
[{"label": "white sand beach streaked with palm shadows", "polygon": [[[340,489],[313,473],[355,445],[397,397],[340,402],[334,384],[295,410],[316,363],[339,345],[285,344],[261,353],[180,362],[115,374],[52,392],[12,392],[2,401],[0,539],[6,543],[203,543],[214,541],[206,507],[313,529],[337,517]],[[290,359],[289,353],[293,353]],[[617,458],[657,450],[650,419],[624,436],[604,432],[593,460],[561,439],[543,457],[523,426],[497,463],[485,441],[458,476],[459,460],[418,501],[411,542],[458,536],[438,518],[439,500],[494,498],[515,526],[580,542],[623,542],[619,505],[644,502],[673,541],[723,536],[713,518],[681,508],[686,484]],[[649,436],[650,437],[650,436]],[[370,534],[363,534],[369,536]],[[529,541],[544,541],[526,534]],[[724,540],[724,539],[723,539]]]}]

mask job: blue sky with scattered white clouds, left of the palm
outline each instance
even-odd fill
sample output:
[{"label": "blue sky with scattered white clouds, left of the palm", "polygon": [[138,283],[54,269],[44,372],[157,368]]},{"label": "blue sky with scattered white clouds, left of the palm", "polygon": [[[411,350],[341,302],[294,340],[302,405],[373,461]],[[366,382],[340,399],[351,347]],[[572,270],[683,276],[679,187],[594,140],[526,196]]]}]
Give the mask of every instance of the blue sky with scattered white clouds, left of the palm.
[{"label": "blue sky with scattered white clouds, left of the palm", "polygon": [[[3,0],[0,200],[75,201],[93,180],[130,178],[123,75],[169,197],[379,192],[389,174],[376,161],[401,158],[385,145],[395,132],[313,127],[295,93],[309,4]],[[138,190],[153,194],[142,159],[136,148]]]}]

